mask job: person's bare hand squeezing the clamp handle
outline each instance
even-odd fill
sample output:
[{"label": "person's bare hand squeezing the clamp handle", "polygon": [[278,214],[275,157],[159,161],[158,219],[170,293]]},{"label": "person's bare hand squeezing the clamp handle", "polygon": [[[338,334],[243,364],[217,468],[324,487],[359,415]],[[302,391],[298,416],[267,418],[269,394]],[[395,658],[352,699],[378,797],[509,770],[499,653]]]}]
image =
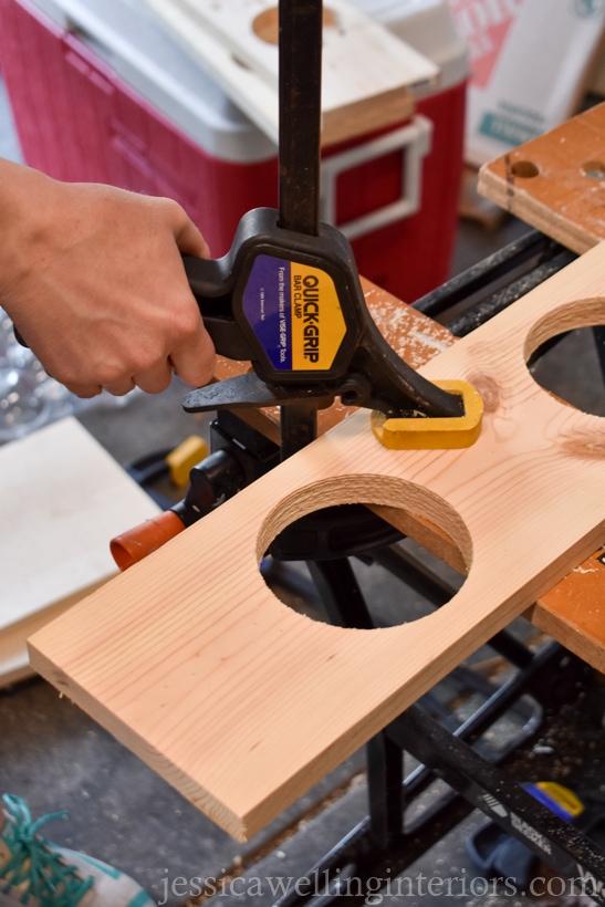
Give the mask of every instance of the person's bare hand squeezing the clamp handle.
[{"label": "person's bare hand squeezing the clamp handle", "polygon": [[182,208],[0,161],[0,305],[80,397],[212,377],[215,351],[181,256],[209,258]]}]

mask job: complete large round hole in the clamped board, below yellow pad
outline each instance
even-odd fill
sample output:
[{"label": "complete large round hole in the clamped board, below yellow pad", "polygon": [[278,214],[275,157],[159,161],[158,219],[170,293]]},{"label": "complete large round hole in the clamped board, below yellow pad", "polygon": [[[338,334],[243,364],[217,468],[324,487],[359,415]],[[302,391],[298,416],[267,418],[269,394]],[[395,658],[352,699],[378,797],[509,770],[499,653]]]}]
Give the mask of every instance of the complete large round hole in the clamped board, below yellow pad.
[{"label": "complete large round hole in the clamped board, below yellow pad", "polygon": [[359,629],[409,623],[445,605],[465,582],[472,548],[449,504],[383,476],[301,489],[267,519],[259,543],[262,575],[281,602]]}]

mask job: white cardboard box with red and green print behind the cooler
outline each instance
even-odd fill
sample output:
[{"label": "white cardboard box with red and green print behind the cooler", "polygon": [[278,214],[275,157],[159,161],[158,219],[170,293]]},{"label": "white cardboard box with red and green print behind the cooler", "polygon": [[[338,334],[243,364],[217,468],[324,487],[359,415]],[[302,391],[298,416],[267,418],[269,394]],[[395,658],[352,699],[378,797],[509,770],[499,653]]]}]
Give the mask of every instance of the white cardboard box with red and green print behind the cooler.
[{"label": "white cardboard box with red and green print behind the cooler", "polygon": [[465,157],[481,166],[563,123],[605,32],[601,0],[449,0],[470,49]]}]

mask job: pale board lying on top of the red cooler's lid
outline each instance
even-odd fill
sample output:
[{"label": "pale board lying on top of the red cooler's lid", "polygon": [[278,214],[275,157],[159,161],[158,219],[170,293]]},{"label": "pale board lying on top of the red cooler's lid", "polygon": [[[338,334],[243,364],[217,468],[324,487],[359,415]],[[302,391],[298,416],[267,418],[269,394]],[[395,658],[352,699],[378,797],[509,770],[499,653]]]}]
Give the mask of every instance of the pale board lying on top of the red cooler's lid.
[{"label": "pale board lying on top of the red cooler's lid", "polygon": [[[145,0],[184,50],[275,144],[279,138],[275,0]],[[255,27],[258,17],[273,28]],[[322,144],[393,126],[414,112],[411,87],[438,66],[346,0],[326,4]]]}]

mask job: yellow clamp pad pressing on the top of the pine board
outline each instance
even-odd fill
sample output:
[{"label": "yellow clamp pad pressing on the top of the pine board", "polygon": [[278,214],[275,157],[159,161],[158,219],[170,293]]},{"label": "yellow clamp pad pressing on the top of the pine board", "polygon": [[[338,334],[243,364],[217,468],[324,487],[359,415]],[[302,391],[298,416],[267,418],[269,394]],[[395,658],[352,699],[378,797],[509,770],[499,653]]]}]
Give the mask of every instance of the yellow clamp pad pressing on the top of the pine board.
[{"label": "yellow clamp pad pressing on the top of the pine board", "polygon": [[465,415],[455,417],[410,417],[389,419],[384,413],[371,415],[372,430],[390,450],[447,450],[470,447],[481,434],[483,400],[468,382],[439,380],[437,387],[459,394]]}]

